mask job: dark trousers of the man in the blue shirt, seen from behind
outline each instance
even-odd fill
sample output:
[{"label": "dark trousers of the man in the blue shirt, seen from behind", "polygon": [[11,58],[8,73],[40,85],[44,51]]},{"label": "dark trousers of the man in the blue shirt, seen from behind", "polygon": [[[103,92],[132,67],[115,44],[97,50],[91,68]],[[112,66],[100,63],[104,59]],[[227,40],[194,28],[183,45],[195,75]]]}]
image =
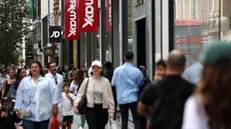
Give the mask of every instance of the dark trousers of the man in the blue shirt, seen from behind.
[{"label": "dark trousers of the man in the blue shirt, seen from behind", "polygon": [[128,115],[129,115],[128,111],[129,111],[129,109],[132,112],[132,117],[133,117],[135,129],[141,129],[140,117],[137,114],[137,102],[120,105],[120,113],[121,113],[121,117],[122,117],[121,129],[128,129]]}]

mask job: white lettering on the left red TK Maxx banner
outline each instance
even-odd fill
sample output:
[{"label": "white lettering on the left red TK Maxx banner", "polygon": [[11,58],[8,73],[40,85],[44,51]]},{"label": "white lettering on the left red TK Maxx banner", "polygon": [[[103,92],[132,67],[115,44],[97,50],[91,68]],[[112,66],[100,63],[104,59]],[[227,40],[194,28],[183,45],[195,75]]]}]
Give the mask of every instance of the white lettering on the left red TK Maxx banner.
[{"label": "white lettering on the left red TK Maxx banner", "polygon": [[77,34],[77,14],[76,14],[76,0],[70,0],[70,7],[67,10],[70,13],[70,28],[68,37],[76,36]]}]

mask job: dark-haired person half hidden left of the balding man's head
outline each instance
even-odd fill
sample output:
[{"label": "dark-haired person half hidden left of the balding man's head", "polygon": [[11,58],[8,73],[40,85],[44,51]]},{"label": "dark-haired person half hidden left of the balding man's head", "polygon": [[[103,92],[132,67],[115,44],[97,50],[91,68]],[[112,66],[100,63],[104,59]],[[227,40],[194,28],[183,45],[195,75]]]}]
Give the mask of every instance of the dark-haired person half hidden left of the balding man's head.
[{"label": "dark-haired person half hidden left of the balding man's head", "polygon": [[154,82],[159,81],[165,77],[166,67],[166,62],[162,59],[156,63]]}]

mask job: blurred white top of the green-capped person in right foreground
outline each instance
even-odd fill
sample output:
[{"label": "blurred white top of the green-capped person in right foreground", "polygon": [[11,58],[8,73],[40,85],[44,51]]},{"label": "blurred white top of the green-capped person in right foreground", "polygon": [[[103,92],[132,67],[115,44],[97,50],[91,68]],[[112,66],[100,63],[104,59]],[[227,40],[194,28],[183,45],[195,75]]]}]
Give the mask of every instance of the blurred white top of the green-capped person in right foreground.
[{"label": "blurred white top of the green-capped person in right foreground", "polygon": [[190,97],[185,104],[182,129],[209,129],[208,117],[196,97]]}]

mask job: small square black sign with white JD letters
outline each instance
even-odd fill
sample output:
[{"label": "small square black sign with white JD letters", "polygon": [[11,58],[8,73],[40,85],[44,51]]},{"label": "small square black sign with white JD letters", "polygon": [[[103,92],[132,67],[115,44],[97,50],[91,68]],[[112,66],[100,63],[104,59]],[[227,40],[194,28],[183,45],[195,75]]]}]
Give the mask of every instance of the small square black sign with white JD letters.
[{"label": "small square black sign with white JD letters", "polygon": [[61,27],[60,26],[50,26],[49,27],[49,42],[56,43],[60,42],[62,38]]}]

